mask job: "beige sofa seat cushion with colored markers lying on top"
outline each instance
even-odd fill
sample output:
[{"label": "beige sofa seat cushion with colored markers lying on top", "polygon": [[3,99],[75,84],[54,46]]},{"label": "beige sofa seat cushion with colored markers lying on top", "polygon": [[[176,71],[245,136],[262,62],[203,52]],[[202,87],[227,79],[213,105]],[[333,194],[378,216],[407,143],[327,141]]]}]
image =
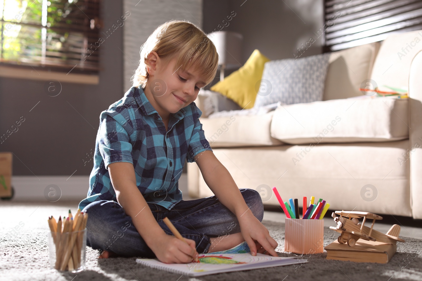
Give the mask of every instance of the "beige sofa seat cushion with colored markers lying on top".
[{"label": "beige sofa seat cushion with colored markers lying on top", "polygon": [[279,105],[271,136],[289,144],[387,142],[407,139],[408,99],[333,99]]}]

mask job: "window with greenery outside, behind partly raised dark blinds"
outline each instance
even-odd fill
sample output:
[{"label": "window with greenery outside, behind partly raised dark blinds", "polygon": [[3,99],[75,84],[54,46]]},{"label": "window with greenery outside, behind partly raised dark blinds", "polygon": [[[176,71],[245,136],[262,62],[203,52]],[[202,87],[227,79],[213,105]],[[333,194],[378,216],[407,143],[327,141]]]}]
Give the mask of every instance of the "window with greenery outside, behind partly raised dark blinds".
[{"label": "window with greenery outside, behind partly raised dark blinds", "polygon": [[100,0],[0,0],[0,65],[94,74]]}]

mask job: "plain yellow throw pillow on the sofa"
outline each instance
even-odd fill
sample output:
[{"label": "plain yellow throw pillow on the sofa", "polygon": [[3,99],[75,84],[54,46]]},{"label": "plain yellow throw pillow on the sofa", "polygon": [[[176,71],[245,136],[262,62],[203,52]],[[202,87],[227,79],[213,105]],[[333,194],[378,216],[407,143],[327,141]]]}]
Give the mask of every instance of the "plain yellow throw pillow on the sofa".
[{"label": "plain yellow throw pillow on the sofa", "polygon": [[227,96],[242,108],[252,108],[259,89],[259,85],[255,85],[262,78],[264,64],[269,61],[270,59],[255,49],[243,67],[216,83],[211,91]]}]

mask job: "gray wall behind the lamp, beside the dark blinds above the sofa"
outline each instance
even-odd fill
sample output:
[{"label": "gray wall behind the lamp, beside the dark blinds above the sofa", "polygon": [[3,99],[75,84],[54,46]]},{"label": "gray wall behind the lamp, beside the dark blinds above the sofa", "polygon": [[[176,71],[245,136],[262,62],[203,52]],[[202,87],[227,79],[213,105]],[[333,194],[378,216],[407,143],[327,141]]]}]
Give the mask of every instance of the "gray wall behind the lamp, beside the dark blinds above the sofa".
[{"label": "gray wall behind the lamp, beside the dark blinds above the sofa", "polygon": [[[302,57],[322,53],[323,37],[317,39],[314,34],[324,24],[322,0],[203,0],[204,32],[221,28],[218,25],[232,11],[236,15],[221,30],[243,35],[242,64],[254,49],[271,60],[294,58],[297,48],[311,37],[316,42]],[[231,72],[226,70],[225,75]],[[210,85],[217,81],[214,79]]]}]

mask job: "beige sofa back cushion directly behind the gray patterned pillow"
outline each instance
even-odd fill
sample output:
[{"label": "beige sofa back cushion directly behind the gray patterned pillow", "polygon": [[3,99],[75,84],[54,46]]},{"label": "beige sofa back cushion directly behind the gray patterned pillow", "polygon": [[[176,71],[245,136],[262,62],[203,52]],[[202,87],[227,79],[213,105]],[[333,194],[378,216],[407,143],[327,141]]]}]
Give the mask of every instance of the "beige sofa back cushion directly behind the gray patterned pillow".
[{"label": "beige sofa back cushion directly behind the gray patterned pillow", "polygon": [[322,100],[361,96],[359,88],[371,76],[379,45],[374,42],[331,53]]}]

